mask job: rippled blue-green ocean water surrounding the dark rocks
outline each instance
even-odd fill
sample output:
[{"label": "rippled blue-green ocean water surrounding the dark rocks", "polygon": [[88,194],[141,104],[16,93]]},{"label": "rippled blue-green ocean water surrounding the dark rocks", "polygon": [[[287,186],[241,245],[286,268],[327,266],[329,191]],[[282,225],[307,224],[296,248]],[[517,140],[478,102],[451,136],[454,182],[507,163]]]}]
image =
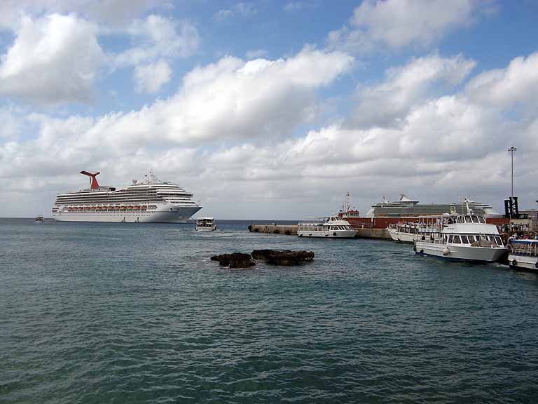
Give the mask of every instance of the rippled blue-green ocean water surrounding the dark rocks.
[{"label": "rippled blue-green ocean water surrounding the dark rocks", "polygon": [[537,402],[537,275],[248,224],[0,220],[0,402]]}]

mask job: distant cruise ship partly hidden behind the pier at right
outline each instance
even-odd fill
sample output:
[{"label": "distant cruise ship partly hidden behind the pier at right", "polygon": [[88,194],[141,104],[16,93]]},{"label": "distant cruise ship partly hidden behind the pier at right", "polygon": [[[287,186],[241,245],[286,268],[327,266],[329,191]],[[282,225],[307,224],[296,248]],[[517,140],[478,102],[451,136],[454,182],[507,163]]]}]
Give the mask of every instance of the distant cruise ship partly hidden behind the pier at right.
[{"label": "distant cruise ship partly hidden behind the pier at right", "polygon": [[[490,205],[469,201],[469,207],[476,215],[485,217],[500,216]],[[380,203],[374,203],[366,217],[414,217],[414,216],[436,216],[445,213],[466,213],[466,206],[463,203],[419,203],[401,194],[399,201],[387,201],[383,198]]]}]

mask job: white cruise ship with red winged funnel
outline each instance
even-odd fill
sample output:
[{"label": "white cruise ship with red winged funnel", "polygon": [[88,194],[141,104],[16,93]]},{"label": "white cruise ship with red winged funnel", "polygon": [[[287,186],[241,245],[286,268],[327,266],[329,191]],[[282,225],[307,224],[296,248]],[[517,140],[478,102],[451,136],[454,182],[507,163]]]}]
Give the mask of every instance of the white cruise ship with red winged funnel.
[{"label": "white cruise ship with red winged funnel", "polygon": [[151,222],[185,223],[198,210],[191,201],[193,194],[177,184],[164,182],[153,173],[145,180],[116,189],[97,182],[99,173],[81,174],[90,177],[90,188],[57,194],[53,217],[62,222]]}]

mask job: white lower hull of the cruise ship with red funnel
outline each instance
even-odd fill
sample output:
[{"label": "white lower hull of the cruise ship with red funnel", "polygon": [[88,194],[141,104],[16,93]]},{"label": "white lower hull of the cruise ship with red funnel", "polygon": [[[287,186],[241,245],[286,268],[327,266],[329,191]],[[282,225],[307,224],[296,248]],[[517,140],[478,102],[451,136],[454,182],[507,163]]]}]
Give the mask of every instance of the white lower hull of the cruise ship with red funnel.
[{"label": "white lower hull of the cruise ship with red funnel", "polygon": [[145,212],[82,213],[58,211],[53,213],[53,217],[59,222],[185,223],[200,209],[200,206],[170,208],[170,205],[166,205]]}]

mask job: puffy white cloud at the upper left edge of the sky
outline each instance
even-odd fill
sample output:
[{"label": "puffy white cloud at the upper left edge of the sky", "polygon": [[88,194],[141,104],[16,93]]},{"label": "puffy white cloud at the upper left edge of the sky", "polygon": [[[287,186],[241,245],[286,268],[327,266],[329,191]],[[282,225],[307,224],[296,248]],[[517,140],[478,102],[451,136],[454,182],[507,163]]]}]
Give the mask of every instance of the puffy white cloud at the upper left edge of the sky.
[{"label": "puffy white cloud at the upper left edge of the sky", "polygon": [[24,17],[1,56],[0,94],[30,102],[88,102],[104,55],[97,28],[76,15]]}]

